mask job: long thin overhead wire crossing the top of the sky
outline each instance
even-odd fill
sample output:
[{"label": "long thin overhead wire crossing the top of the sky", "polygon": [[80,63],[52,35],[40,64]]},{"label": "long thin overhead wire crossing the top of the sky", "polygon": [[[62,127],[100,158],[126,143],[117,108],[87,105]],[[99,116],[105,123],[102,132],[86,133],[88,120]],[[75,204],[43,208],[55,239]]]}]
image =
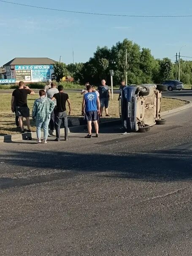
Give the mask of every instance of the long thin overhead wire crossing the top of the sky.
[{"label": "long thin overhead wire crossing the top of the sky", "polygon": [[181,18],[181,17],[192,17],[192,15],[125,15],[125,14],[104,14],[104,13],[94,13],[94,12],[84,12],[84,11],[69,11],[69,10],[62,10],[62,9],[54,9],[48,7],[41,7],[41,6],[31,6],[22,3],[13,3],[9,1],[0,0],[3,3],[10,3],[18,6],[27,6],[32,8],[39,8],[51,11],[64,11],[70,13],[78,13],[78,14],[90,14],[90,15],[101,15],[101,16],[116,16],[116,17],[143,17],[143,18]]}]

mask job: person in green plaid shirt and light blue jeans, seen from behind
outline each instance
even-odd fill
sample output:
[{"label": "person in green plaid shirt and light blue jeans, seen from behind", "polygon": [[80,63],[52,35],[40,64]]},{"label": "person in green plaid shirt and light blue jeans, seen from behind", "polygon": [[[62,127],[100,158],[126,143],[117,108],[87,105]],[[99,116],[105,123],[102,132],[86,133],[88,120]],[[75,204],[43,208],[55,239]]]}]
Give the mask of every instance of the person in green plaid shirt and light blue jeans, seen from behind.
[{"label": "person in green plaid shirt and light blue jeans, seen from behind", "polygon": [[43,143],[47,143],[48,127],[51,117],[51,112],[54,109],[54,102],[45,97],[45,91],[40,90],[37,100],[35,100],[32,109],[32,118],[36,119],[37,127],[37,143],[41,143],[41,126],[43,125]]}]

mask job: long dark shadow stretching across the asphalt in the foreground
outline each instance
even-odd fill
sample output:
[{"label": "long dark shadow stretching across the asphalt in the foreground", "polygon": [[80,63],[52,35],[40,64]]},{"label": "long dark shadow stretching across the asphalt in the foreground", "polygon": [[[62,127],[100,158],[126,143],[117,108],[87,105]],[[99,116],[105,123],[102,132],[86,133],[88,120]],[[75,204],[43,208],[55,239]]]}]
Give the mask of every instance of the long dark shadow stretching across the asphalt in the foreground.
[{"label": "long dark shadow stretching across the asphalt in the foreground", "polygon": [[[62,180],[87,173],[97,173],[97,177],[129,178],[150,182],[188,180],[192,178],[192,150],[158,150],[151,153],[100,155],[65,152],[17,152],[9,157],[0,156],[1,161],[13,166],[32,169],[54,169],[48,175],[27,178],[1,178],[0,188],[41,184]],[[23,160],[21,160],[23,159]],[[57,171],[58,170],[58,171]],[[36,170],[37,172],[37,170]]]}]

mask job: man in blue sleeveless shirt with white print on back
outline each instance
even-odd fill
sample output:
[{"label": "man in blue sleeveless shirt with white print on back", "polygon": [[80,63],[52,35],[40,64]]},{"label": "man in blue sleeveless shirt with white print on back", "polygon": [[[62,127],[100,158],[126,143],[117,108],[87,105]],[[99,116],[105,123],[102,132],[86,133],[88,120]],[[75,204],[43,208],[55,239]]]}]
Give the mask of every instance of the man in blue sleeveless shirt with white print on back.
[{"label": "man in blue sleeveless shirt with white print on back", "polygon": [[83,103],[82,103],[82,115],[85,114],[85,117],[87,119],[87,126],[88,126],[88,132],[89,134],[85,136],[85,138],[91,138],[91,130],[92,130],[92,121],[95,125],[95,131],[96,131],[96,138],[99,137],[99,126],[98,126],[98,120],[100,113],[100,100],[99,97],[95,92],[92,92],[92,86],[87,85],[87,93],[83,97]]}]

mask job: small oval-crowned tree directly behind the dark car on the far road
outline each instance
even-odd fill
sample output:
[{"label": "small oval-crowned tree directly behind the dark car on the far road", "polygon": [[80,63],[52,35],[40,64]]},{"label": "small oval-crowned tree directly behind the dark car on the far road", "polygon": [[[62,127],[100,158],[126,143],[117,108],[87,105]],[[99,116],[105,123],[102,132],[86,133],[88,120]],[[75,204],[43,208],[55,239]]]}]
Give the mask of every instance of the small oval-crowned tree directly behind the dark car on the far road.
[{"label": "small oval-crowned tree directly behind the dark car on the far road", "polygon": [[169,58],[163,58],[162,61],[160,61],[160,79],[168,80],[171,78],[173,72],[173,65]]}]

